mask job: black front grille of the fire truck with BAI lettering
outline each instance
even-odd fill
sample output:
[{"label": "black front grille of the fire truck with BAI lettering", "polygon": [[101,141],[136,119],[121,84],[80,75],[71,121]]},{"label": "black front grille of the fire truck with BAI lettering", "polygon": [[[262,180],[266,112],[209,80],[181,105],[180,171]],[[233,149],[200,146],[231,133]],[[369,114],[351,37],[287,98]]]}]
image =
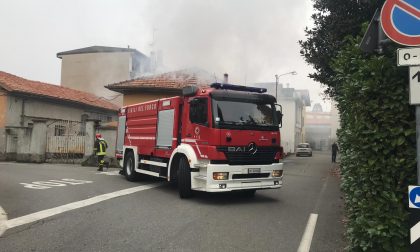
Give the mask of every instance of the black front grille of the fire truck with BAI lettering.
[{"label": "black front grille of the fire truck with BAI lettering", "polygon": [[[230,165],[255,165],[275,163],[276,153],[279,151],[276,147],[258,147],[254,154],[247,151],[229,151],[227,146],[217,147],[217,151],[226,155],[227,163]],[[240,150],[240,148],[238,148]]]}]

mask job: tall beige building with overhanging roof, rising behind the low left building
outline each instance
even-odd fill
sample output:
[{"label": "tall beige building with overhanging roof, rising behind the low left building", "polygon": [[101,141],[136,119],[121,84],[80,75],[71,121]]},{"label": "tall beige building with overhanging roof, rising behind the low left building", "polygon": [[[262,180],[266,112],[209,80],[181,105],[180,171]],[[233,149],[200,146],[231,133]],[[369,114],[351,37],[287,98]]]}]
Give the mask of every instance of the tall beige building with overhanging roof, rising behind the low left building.
[{"label": "tall beige building with overhanging roof, rising behind the low left building", "polygon": [[109,83],[134,79],[150,71],[150,59],[131,48],[91,46],[57,53],[61,85],[103,97],[121,106],[119,93],[104,88]]}]

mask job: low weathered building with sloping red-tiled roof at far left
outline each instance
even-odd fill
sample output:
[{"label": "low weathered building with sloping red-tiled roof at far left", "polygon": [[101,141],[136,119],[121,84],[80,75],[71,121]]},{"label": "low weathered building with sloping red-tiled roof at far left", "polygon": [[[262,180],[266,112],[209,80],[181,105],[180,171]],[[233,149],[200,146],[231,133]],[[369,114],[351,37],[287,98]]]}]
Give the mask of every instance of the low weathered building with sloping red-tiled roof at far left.
[{"label": "low weathered building with sloping red-tiled roof at far left", "polygon": [[86,125],[115,121],[117,110],[89,93],[0,71],[0,160],[44,162],[46,153],[82,158],[86,137],[94,140]]}]

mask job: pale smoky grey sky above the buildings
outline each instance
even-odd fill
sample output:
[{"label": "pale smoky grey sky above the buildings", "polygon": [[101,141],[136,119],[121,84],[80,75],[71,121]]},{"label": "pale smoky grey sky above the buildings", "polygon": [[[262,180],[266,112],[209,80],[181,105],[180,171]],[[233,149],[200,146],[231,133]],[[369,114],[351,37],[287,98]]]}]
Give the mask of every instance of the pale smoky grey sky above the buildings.
[{"label": "pale smoky grey sky above the buildings", "polygon": [[0,71],[60,83],[58,52],[89,47],[161,51],[168,70],[201,68],[229,82],[275,82],[324,102],[300,56],[310,0],[0,0]]}]

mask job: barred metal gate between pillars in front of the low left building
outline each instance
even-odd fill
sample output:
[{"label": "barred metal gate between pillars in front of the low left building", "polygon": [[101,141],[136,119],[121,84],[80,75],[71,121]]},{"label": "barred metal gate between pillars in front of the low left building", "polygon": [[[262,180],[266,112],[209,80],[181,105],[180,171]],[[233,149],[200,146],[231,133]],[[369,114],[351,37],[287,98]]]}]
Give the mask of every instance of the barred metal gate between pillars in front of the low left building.
[{"label": "barred metal gate between pillars in front of the low left building", "polygon": [[75,121],[54,121],[47,129],[47,162],[80,163],[85,154],[85,125]]}]

